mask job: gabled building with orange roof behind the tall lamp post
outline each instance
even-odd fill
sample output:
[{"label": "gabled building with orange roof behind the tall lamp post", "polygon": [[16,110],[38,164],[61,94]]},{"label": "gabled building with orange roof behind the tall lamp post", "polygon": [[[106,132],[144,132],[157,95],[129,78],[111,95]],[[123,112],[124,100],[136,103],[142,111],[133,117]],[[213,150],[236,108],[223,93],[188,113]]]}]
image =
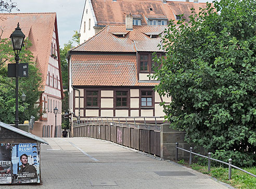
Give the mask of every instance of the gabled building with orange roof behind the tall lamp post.
[{"label": "gabled building with orange roof behind the tall lamp post", "polygon": [[[60,137],[63,88],[56,13],[1,13],[0,17],[2,38],[9,38],[19,22],[25,37],[32,43],[30,50],[42,76],[42,94],[38,101],[41,117],[31,133],[40,137]],[[58,108],[57,126],[55,107]]]}]

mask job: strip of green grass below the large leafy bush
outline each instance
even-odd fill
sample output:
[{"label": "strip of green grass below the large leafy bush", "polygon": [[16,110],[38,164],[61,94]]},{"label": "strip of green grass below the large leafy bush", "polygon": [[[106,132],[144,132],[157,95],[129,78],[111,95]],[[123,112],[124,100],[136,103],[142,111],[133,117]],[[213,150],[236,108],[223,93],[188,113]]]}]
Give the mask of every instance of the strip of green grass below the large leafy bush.
[{"label": "strip of green grass below the large leafy bush", "polygon": [[[248,175],[245,172],[242,172],[238,169],[232,168],[232,179],[228,180],[228,168],[225,167],[212,167],[211,171],[208,172],[208,166],[201,166],[199,164],[191,164],[188,166],[188,164],[185,164],[184,160],[182,159],[178,163],[190,167],[194,170],[197,170],[203,174],[208,174],[217,180],[227,183],[235,188],[242,188],[242,189],[256,189],[256,178]],[[250,167],[250,168],[242,168],[253,175],[256,175],[256,167]]]}]

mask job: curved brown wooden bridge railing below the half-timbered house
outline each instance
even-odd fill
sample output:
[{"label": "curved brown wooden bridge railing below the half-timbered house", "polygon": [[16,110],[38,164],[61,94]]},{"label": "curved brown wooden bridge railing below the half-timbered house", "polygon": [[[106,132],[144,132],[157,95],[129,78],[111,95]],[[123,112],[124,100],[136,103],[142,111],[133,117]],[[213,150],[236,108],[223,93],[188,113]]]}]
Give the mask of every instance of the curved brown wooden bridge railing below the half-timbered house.
[{"label": "curved brown wooden bridge railing below the half-timbered house", "polygon": [[[129,118],[95,118],[74,122],[74,137],[92,137],[108,140],[125,147],[136,149],[151,155],[160,157],[160,125],[157,119],[151,117],[153,124],[147,123],[145,118],[140,117],[140,122],[131,121]],[[138,118],[137,118],[138,120]]]}]

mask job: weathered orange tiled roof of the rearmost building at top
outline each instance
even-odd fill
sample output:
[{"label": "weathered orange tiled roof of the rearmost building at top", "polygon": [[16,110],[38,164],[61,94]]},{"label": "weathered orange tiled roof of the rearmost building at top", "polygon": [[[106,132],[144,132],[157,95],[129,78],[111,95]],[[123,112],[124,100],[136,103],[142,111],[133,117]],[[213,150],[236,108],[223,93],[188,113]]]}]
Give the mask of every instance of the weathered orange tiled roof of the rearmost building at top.
[{"label": "weathered orange tiled roof of the rearmost building at top", "polygon": [[[193,2],[170,2],[163,4],[162,1],[146,0],[91,0],[94,14],[98,25],[123,25],[125,15],[131,13],[143,15],[145,18],[159,18],[175,20],[174,14],[184,14],[186,20],[191,14],[191,8],[199,12],[199,7],[206,7],[206,3]],[[150,10],[151,9],[151,10]],[[146,19],[142,19],[142,25],[147,25]]]}]

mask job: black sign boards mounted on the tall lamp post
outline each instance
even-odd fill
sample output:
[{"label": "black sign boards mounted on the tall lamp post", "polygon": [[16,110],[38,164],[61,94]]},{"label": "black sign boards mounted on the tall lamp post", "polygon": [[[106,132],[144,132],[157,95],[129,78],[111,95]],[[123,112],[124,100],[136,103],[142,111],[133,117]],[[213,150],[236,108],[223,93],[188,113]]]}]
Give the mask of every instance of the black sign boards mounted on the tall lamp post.
[{"label": "black sign boards mounted on the tall lamp post", "polygon": [[[16,64],[8,64],[8,77],[16,77]],[[29,77],[29,63],[19,64],[19,77]]]}]

